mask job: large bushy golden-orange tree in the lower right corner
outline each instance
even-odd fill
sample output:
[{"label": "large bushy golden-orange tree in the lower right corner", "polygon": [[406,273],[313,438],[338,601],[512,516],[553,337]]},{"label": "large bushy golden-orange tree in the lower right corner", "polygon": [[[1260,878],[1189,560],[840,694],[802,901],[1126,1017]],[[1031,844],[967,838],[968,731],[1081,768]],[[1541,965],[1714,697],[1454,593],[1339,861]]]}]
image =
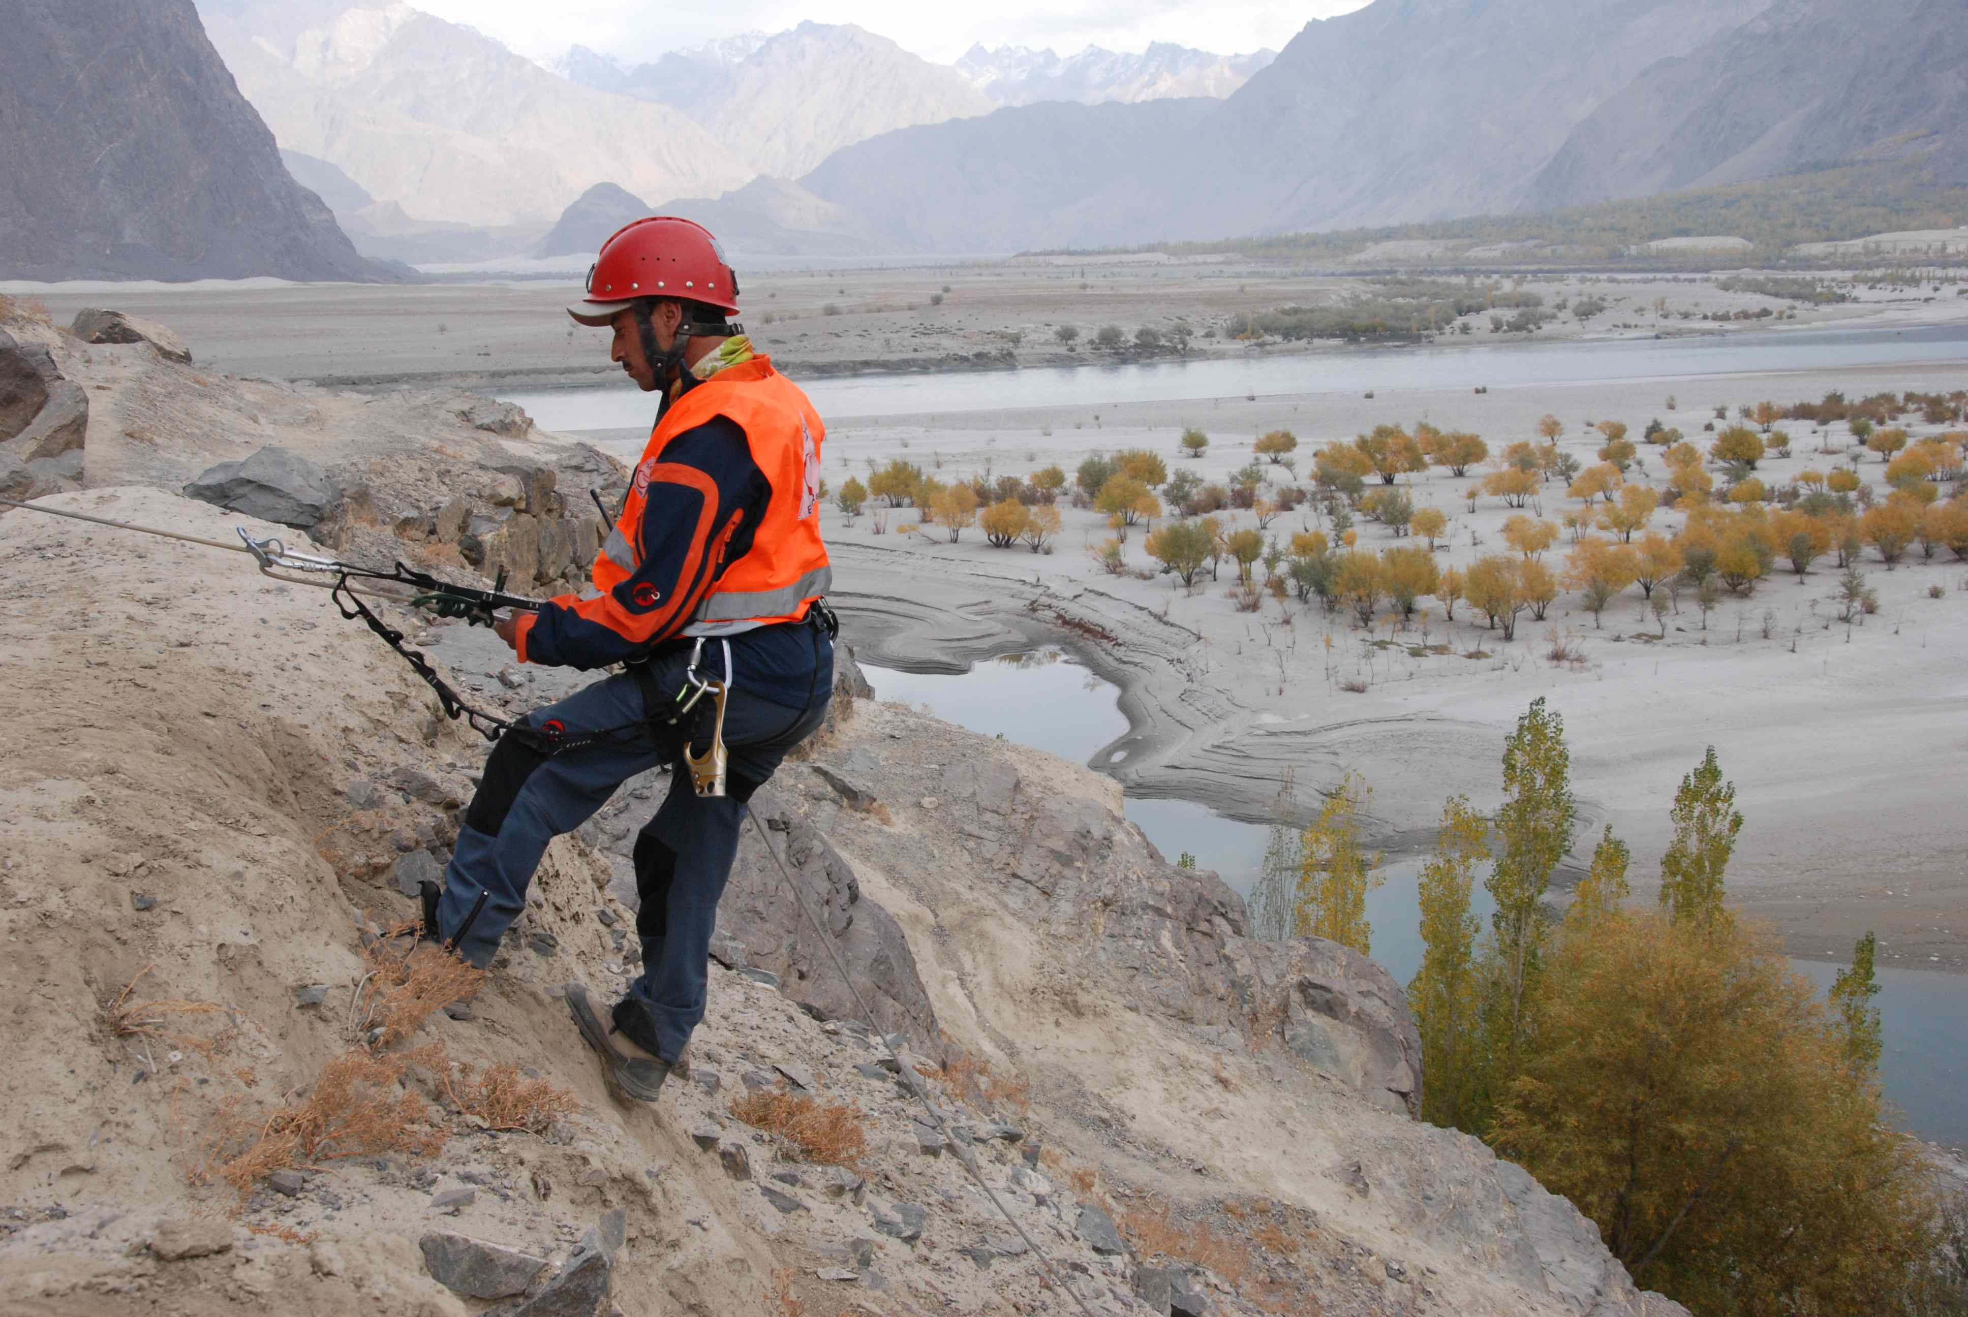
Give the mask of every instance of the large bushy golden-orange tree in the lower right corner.
[{"label": "large bushy golden-orange tree in the lower right corner", "polygon": [[1935,1250],[1917,1144],[1775,939],[1618,911],[1567,925],[1492,1144],[1696,1313],[1913,1313]]}]

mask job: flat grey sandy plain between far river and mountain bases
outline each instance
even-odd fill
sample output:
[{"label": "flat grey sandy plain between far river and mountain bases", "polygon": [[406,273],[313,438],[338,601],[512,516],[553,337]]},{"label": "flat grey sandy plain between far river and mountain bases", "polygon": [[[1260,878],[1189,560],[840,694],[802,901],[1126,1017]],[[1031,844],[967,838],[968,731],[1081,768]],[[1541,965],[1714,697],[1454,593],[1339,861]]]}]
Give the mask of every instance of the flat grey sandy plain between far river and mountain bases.
[{"label": "flat grey sandy plain between far river and mountain bases", "polygon": [[[740,276],[746,272],[740,270]],[[1006,364],[1055,366],[1112,360],[1090,346],[1102,325],[1126,335],[1169,329],[1187,319],[1191,354],[1242,352],[1242,345],[1202,337],[1244,313],[1283,305],[1322,305],[1378,291],[1362,278],[1334,278],[1277,266],[1057,266],[1000,262],[911,270],[766,272],[746,276],[746,325],[795,376],[830,370]],[[1757,293],[1726,293],[1710,278],[1565,276],[1531,280],[1525,291],[1547,307],[1578,297],[1608,311],[1586,323],[1561,315],[1537,341],[1714,333],[1708,313],[1795,313],[1791,327],[1919,325],[1968,315],[1956,285],[1860,289],[1860,301],[1801,307]],[[429,283],[368,287],[246,280],[193,285],[0,283],[0,293],[37,297],[67,323],[91,305],[116,305],[171,325],[201,364],[230,374],[266,374],[323,384],[592,384],[612,378],[604,337],[573,327],[561,313],[579,297],[579,280]],[[933,297],[941,305],[931,305]],[[1506,287],[1507,295],[1507,287]],[[1665,299],[1667,315],[1655,313]],[[834,307],[836,315],[829,315]],[[1692,319],[1685,319],[1692,317]],[[1492,335],[1488,313],[1464,317],[1470,335],[1443,343],[1517,341]],[[1767,327],[1773,321],[1734,321]],[[1080,343],[1067,350],[1057,329],[1073,325]],[[1322,350],[1332,350],[1324,345]],[[988,356],[988,362],[980,362]]]}]

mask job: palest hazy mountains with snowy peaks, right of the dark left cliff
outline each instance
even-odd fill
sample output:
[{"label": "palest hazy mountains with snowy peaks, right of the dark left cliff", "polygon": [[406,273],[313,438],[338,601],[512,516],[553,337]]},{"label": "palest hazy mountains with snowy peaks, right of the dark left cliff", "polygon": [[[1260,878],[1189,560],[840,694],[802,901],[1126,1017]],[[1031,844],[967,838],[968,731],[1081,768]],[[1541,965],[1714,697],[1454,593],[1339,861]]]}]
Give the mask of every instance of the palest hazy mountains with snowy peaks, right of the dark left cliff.
[{"label": "palest hazy mountains with snowy peaks, right of the dark left cliff", "polygon": [[[281,148],[335,171],[301,165],[338,213],[366,195],[364,207],[394,203],[437,238],[449,224],[537,232],[598,183],[661,201],[795,179],[846,146],[1006,104],[1224,94],[1269,61],[1269,51],[1179,45],[1069,59],[974,47],[937,65],[862,28],[799,24],[638,65],[575,45],[543,69],[409,4],[199,0],[199,10]],[[766,195],[785,189],[750,197]],[[396,215],[348,226],[372,250],[411,252]],[[411,254],[429,254],[423,238]]]}]

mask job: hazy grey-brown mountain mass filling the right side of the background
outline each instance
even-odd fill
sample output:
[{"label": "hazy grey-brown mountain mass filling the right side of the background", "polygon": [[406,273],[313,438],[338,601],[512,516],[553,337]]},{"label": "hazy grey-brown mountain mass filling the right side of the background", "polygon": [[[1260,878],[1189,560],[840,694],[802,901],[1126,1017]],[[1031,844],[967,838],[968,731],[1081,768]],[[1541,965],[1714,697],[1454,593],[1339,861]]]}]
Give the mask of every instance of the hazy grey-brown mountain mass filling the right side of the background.
[{"label": "hazy grey-brown mountain mass filling the right side of the background", "polygon": [[994,252],[1543,211],[1881,156],[1946,183],[1968,179],[1964,67],[1962,0],[1376,0],[1307,24],[1189,122],[1106,106],[1102,150],[1139,163],[1094,189],[1045,175],[1057,116],[1010,108],[860,142],[801,185],[892,242]]}]

